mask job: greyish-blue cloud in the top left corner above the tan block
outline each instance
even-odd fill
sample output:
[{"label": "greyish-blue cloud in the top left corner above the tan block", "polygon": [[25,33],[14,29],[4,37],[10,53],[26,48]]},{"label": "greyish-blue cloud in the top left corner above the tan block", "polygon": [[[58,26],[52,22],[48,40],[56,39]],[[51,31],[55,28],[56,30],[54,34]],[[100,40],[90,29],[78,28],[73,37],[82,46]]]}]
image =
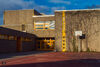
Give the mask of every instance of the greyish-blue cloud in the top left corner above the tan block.
[{"label": "greyish-blue cloud in the top left corner above the tan block", "polygon": [[26,2],[23,0],[0,0],[0,9],[22,9],[29,6],[29,4],[33,4],[33,2]]}]

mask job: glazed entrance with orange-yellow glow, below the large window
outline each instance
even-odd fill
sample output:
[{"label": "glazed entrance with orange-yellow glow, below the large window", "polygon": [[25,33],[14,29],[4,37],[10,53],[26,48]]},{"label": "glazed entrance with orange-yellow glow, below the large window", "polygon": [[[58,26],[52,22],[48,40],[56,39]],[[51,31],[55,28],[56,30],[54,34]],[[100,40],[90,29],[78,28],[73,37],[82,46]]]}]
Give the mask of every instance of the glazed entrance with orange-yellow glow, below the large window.
[{"label": "glazed entrance with orange-yellow glow, below the large window", "polygon": [[37,50],[54,50],[55,39],[54,38],[38,38],[36,41]]}]

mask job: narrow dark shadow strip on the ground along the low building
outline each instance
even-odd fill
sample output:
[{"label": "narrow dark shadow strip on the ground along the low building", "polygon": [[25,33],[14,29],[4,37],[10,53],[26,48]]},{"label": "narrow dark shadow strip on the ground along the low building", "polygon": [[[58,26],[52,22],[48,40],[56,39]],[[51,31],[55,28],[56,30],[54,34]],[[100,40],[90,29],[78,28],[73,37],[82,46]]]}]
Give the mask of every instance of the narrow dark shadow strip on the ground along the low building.
[{"label": "narrow dark shadow strip on the ground along the low building", "polygon": [[41,54],[41,53],[48,53],[53,51],[27,51],[27,52],[16,52],[16,53],[1,53],[0,54],[0,60],[6,60],[10,58],[16,58],[16,57],[24,57],[24,56],[31,56],[35,54]]}]

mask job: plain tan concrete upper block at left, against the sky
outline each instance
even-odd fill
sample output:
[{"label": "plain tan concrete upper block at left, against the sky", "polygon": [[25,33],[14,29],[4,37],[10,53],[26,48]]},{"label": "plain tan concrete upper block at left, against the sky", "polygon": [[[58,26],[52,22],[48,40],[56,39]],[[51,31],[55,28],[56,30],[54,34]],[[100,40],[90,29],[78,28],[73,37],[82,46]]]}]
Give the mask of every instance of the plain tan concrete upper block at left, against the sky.
[{"label": "plain tan concrete upper block at left, against the sky", "polygon": [[36,10],[12,10],[4,12],[4,24],[30,24],[33,22],[32,16],[41,15]]}]

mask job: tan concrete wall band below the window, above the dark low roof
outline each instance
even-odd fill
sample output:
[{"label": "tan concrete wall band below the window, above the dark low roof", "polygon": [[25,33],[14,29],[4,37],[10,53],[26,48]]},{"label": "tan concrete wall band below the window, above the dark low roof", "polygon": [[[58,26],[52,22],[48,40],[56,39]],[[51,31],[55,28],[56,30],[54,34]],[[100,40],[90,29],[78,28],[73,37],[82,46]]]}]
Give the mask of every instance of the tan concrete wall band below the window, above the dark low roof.
[{"label": "tan concrete wall band below the window, above the dark low roof", "polygon": [[[2,27],[22,31],[22,25],[3,25]],[[55,37],[55,30],[34,30],[33,24],[25,24],[25,31],[30,34],[34,34],[37,37]]]}]

